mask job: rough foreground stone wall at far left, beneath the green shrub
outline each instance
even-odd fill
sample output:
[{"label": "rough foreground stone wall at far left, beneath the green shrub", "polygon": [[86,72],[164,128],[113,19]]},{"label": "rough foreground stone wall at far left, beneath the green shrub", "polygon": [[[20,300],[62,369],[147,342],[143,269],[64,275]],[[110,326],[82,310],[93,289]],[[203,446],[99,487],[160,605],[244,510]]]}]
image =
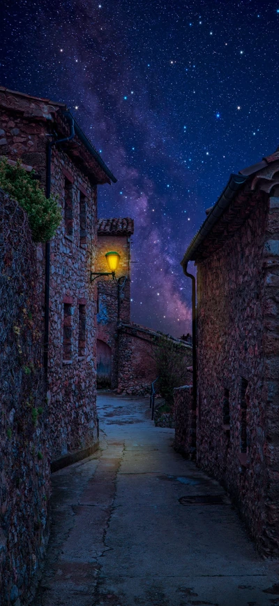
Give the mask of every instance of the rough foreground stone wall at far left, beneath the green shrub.
[{"label": "rough foreground stone wall at far left, beneath the green shrub", "polygon": [[25,603],[47,539],[49,422],[36,248],[0,189],[0,601]]}]

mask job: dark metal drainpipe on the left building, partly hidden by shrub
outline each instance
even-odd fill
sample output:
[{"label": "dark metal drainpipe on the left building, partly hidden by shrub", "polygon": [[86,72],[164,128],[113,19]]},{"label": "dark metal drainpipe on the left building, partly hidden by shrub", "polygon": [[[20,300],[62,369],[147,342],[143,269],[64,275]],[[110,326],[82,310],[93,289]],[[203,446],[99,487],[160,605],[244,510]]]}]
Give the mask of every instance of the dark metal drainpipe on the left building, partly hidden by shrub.
[{"label": "dark metal drainpipe on the left building, partly hidden by shrub", "polygon": [[[48,141],[47,143],[47,182],[46,182],[46,198],[50,198],[51,182],[52,182],[52,146],[59,143],[70,141],[75,136],[75,122],[70,126],[70,136],[56,141]],[[45,369],[45,380],[47,382],[47,367],[48,367],[48,340],[49,340],[49,323],[50,323],[50,240],[45,243],[45,338],[44,338],[44,354],[43,362]]]}]

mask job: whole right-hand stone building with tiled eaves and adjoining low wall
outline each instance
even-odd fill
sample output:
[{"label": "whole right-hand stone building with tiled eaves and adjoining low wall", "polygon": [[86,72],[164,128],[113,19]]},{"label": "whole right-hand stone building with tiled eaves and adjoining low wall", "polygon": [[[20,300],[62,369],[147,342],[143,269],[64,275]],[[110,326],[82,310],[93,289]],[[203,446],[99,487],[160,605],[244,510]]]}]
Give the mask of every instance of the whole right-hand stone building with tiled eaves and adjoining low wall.
[{"label": "whole right-hand stone building with tiled eaves and adjoining low wall", "polygon": [[196,448],[259,549],[278,556],[278,151],[231,175],[186,250],[184,273],[188,261],[197,266],[197,386],[176,390],[176,448]]}]

